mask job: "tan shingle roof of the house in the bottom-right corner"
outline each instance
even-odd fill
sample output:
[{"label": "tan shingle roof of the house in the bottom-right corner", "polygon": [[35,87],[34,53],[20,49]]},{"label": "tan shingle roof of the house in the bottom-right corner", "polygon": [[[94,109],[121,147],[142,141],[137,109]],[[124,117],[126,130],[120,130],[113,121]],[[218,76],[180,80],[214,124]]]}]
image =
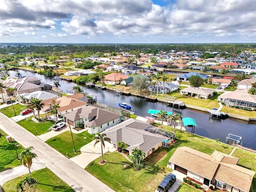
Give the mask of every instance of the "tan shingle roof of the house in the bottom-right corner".
[{"label": "tan shingle roof of the house in the bottom-right corner", "polygon": [[[222,154],[221,152],[219,152]],[[214,153],[213,153],[214,154]],[[225,154],[225,156],[228,156]],[[190,170],[200,176],[216,180],[234,186],[240,190],[249,192],[254,171],[235,164],[219,162],[212,156],[189,147],[179,147],[169,162]]]}]

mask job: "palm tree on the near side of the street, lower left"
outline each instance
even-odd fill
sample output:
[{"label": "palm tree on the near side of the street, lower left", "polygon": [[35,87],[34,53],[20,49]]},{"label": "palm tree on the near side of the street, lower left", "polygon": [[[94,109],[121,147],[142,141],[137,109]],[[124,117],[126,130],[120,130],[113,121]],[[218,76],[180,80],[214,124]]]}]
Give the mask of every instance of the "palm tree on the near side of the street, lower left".
[{"label": "palm tree on the near side of the street, lower left", "polygon": [[32,166],[32,159],[37,157],[37,155],[31,151],[32,149],[34,149],[34,147],[30,146],[30,147],[26,148],[25,150],[23,150],[22,152],[20,152],[20,154],[19,154],[19,159],[22,162],[22,164],[26,168],[28,168],[30,177],[31,177],[30,168]]}]

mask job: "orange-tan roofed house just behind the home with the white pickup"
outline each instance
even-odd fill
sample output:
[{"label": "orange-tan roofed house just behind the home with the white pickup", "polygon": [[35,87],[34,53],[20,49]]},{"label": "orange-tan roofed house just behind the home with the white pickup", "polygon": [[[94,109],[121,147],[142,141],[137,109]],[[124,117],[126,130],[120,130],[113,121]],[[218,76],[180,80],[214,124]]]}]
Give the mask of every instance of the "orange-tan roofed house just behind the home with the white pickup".
[{"label": "orange-tan roofed house just behind the home with the white pickup", "polygon": [[[84,97],[82,95],[80,95],[80,96]],[[60,106],[57,109],[58,114],[60,116],[88,105],[86,102],[78,100],[78,98],[73,98],[73,97],[74,96],[71,95],[71,96],[63,96],[63,97],[45,100],[43,102],[44,105],[42,106],[41,110],[42,110],[42,112],[48,112],[48,111],[52,110],[52,106],[54,105],[53,100],[55,101],[55,104],[58,104]]]}]

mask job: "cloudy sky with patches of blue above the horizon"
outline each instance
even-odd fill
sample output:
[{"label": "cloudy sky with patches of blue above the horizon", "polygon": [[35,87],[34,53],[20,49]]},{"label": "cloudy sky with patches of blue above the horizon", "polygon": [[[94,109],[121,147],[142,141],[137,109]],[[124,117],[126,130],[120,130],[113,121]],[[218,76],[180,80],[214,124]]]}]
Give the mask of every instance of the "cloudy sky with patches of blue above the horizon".
[{"label": "cloudy sky with patches of blue above the horizon", "polygon": [[0,42],[256,42],[255,0],[0,0]]}]

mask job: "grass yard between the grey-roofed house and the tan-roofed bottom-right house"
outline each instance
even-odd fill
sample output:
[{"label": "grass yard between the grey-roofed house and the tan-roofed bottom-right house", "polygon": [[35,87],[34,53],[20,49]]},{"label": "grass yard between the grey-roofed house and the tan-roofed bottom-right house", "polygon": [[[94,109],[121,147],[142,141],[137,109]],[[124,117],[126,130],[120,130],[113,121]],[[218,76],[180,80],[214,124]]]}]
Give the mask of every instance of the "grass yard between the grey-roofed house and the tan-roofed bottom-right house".
[{"label": "grass yard between the grey-roofed house and the tan-roofed bottom-right house", "polygon": [[[164,129],[173,131],[173,128],[168,126],[164,126]],[[98,164],[99,157],[92,162],[92,166],[87,166],[85,170],[115,191],[154,192],[164,176],[171,172],[167,168],[167,163],[177,147],[188,146],[206,154],[212,154],[214,150],[230,154],[233,149],[232,146],[224,143],[218,143],[218,146],[216,146],[215,140],[181,130],[176,130],[176,133],[181,134],[180,140],[169,148],[159,148],[154,154],[150,154],[144,160],[145,168],[140,171],[134,170],[132,164],[118,152],[105,154],[104,159],[107,161],[105,165]],[[125,163],[129,165],[127,168],[124,168]],[[182,184],[178,191],[191,192],[197,191],[197,189]]]}]

